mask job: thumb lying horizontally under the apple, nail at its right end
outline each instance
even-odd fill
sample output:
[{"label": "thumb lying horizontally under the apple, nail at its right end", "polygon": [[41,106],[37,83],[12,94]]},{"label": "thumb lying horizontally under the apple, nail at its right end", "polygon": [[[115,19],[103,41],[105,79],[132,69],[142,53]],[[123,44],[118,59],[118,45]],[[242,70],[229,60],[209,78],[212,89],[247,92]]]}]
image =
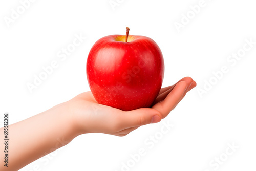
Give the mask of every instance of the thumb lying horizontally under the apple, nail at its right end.
[{"label": "thumb lying horizontally under the apple, nail at its right end", "polygon": [[126,111],[120,117],[122,129],[157,123],[162,119],[160,112],[151,108],[140,108],[132,111]]}]

